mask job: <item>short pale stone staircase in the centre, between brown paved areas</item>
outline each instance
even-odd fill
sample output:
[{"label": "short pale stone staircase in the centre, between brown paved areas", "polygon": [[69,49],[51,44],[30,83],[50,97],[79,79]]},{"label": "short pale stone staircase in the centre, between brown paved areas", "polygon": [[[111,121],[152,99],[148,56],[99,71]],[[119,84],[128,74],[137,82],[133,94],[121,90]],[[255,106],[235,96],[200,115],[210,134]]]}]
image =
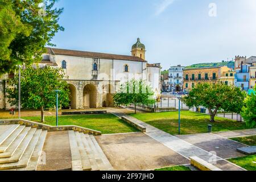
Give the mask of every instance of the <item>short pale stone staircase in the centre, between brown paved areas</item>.
[{"label": "short pale stone staircase in the centre, between brown paved areas", "polygon": [[73,171],[113,171],[104,152],[93,135],[69,130]]}]

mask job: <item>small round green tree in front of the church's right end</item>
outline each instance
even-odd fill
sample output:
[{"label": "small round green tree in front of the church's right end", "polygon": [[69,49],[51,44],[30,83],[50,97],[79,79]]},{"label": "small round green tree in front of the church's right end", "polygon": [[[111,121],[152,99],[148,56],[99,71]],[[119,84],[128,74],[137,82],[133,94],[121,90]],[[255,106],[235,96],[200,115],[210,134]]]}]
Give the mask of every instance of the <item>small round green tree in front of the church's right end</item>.
[{"label": "small round green tree in front of the church's right end", "polygon": [[134,112],[137,113],[138,104],[151,105],[155,103],[154,92],[150,86],[142,80],[131,80],[121,85],[119,92],[114,94],[113,100],[115,106],[134,105]]}]

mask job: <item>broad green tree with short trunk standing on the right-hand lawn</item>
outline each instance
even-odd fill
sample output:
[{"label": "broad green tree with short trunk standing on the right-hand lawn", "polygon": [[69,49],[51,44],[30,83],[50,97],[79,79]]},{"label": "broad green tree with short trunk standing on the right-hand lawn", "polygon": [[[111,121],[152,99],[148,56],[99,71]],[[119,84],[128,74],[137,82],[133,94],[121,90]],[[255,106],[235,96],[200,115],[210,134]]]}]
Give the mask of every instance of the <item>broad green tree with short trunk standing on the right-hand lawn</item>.
[{"label": "broad green tree with short trunk standing on the right-hand lawn", "polygon": [[183,102],[188,107],[204,106],[209,110],[210,122],[214,122],[214,117],[218,110],[240,113],[243,107],[246,93],[240,88],[218,83],[197,84],[183,98]]}]

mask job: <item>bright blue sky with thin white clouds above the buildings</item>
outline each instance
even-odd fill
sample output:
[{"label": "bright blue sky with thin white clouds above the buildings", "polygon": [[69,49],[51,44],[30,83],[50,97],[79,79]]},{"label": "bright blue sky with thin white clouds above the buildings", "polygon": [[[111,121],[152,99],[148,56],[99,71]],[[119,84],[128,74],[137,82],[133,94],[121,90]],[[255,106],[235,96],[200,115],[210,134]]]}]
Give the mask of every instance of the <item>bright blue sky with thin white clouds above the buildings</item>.
[{"label": "bright blue sky with thin white clouds above the buildings", "polygon": [[[209,4],[216,15],[209,16]],[[57,48],[130,55],[137,38],[146,60],[191,65],[256,55],[255,0],[60,0]],[[212,12],[212,11],[210,11]]]}]

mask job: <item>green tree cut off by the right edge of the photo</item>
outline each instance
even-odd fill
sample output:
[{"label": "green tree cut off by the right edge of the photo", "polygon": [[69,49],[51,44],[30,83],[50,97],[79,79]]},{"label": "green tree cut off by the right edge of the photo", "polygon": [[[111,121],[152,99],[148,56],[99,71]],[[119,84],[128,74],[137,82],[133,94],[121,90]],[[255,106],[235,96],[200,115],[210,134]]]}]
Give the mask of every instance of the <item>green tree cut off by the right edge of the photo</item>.
[{"label": "green tree cut off by the right edge of the photo", "polygon": [[[254,88],[256,91],[256,86]],[[242,108],[241,115],[246,121],[248,127],[255,127],[256,125],[256,94],[251,93],[245,100],[245,106]]]}]

